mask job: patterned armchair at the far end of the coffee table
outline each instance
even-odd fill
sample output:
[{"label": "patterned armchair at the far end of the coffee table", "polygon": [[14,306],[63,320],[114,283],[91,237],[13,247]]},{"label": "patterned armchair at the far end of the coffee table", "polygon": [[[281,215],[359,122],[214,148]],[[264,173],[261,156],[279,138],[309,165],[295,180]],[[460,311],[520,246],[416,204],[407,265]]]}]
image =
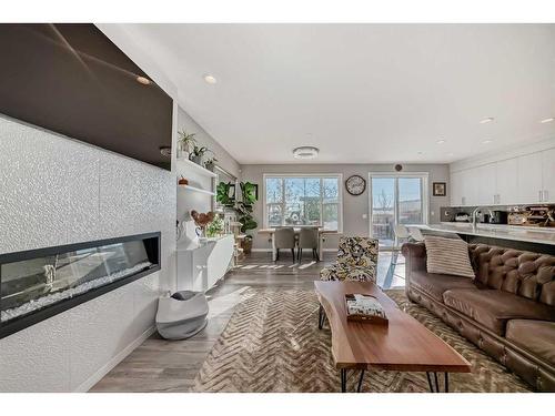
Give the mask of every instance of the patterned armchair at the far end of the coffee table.
[{"label": "patterned armchair at the far end of the coffee table", "polygon": [[320,271],[322,281],[375,282],[377,240],[341,237],[337,261]]}]

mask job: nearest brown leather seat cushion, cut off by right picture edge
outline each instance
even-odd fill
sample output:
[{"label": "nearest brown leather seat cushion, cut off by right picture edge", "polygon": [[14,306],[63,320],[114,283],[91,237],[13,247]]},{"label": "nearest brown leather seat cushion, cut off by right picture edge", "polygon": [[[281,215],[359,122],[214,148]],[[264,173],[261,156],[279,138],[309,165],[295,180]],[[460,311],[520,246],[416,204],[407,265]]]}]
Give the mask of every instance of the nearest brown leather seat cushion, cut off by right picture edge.
[{"label": "nearest brown leather seat cushion, cut off by right picture edge", "polygon": [[511,319],[506,338],[555,365],[555,322]]}]

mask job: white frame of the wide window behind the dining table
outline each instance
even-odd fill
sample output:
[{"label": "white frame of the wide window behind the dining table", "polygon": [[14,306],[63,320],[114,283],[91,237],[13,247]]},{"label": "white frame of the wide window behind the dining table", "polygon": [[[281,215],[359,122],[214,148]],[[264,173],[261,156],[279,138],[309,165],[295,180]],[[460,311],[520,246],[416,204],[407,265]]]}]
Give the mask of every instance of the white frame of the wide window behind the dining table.
[{"label": "white frame of the wide window behind the dining table", "polygon": [[[286,179],[286,177],[302,177],[302,179],[305,179],[305,177],[319,177],[320,181],[321,181],[321,193],[320,193],[320,223],[321,223],[321,227],[323,227],[324,225],[324,219],[323,219],[323,207],[324,207],[324,204],[337,204],[337,230],[331,230],[331,231],[337,231],[339,233],[342,233],[343,232],[343,174],[342,173],[264,173],[262,175],[262,192],[263,192],[263,201],[262,201],[262,205],[263,205],[263,224],[264,224],[264,229],[270,229],[271,226],[269,226],[268,224],[268,205],[282,205],[283,207],[285,207],[286,205],[286,202],[285,202],[285,199],[283,197],[283,202],[281,204],[278,204],[278,203],[268,203],[266,202],[266,179],[269,177],[279,177],[279,179]],[[325,177],[332,177],[332,179],[336,179],[337,180],[337,202],[327,202],[327,203],[324,203],[324,194],[323,194],[323,179]],[[285,184],[282,184],[282,187],[283,187],[283,193],[285,192]],[[295,227],[311,227],[313,225],[295,225]],[[325,229],[323,229],[325,230]]]}]

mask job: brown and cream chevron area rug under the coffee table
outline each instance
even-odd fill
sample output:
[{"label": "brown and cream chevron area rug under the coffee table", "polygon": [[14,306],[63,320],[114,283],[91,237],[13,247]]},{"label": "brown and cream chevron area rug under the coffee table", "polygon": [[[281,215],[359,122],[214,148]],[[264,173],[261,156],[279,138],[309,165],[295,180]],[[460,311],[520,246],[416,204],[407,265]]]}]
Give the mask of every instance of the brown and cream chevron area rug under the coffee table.
[{"label": "brown and cream chevron area rug under the coffee table", "polygon": [[[403,291],[386,291],[472,363],[471,374],[451,374],[451,392],[528,392],[516,375],[482,353]],[[250,288],[196,375],[193,392],[340,392],[327,325],[317,329],[314,291]],[[354,390],[360,372],[349,372]],[[372,372],[363,392],[428,392],[425,373]]]}]

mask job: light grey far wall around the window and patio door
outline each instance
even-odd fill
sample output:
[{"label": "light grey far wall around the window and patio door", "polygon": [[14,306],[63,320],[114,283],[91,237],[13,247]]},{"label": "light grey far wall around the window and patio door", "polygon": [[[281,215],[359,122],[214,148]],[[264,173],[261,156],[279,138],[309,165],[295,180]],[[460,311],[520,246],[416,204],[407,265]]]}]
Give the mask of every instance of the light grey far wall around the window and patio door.
[{"label": "light grey far wall around the window and patio door", "polygon": [[[259,227],[264,226],[263,219],[263,174],[264,173],[341,173],[343,181],[349,176],[357,174],[364,179],[369,177],[369,172],[395,172],[392,164],[246,164],[242,165],[241,180],[259,184],[260,200],[254,205],[254,217]],[[450,172],[446,164],[407,164],[403,165],[403,172],[427,172],[428,173],[428,222],[440,222],[440,207],[448,205]],[[446,182],[447,196],[432,196],[432,183]],[[347,235],[367,235],[370,230],[369,219],[363,219],[363,214],[369,213],[369,186],[362,195],[350,195],[343,187],[343,232]],[[258,235],[253,232],[253,247],[255,250],[269,250],[271,244],[268,236]],[[337,239],[327,237],[324,248],[336,248]]]}]

